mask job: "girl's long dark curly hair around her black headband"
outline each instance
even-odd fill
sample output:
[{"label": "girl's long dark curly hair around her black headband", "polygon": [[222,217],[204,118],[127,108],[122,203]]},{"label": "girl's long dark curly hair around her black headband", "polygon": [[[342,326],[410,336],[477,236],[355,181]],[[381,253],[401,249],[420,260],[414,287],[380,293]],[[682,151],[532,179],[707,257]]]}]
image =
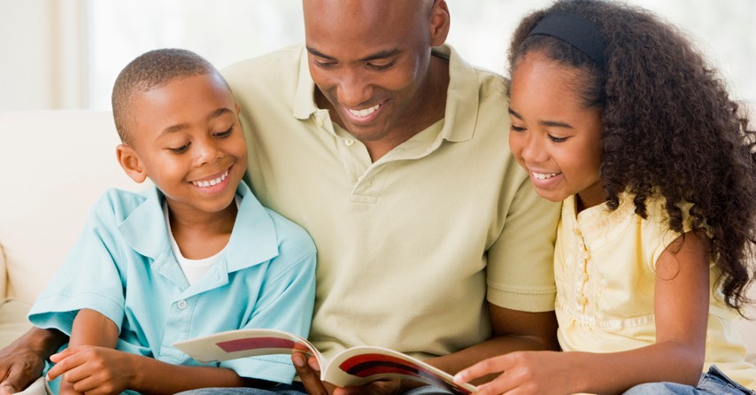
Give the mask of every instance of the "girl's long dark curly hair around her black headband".
[{"label": "girl's long dark curly hair around her black headband", "polygon": [[[606,64],[552,36],[528,36],[549,12],[596,23]],[[756,132],[714,68],[671,24],[601,0],[562,0],[523,19],[509,49],[510,75],[529,51],[575,67],[583,105],[602,112],[599,171],[607,205],[616,209],[627,191],[646,218],[646,200],[660,194],[669,228],[682,233],[680,206],[692,204],[690,225],[709,237],[725,302],[740,311],[753,280]]]}]

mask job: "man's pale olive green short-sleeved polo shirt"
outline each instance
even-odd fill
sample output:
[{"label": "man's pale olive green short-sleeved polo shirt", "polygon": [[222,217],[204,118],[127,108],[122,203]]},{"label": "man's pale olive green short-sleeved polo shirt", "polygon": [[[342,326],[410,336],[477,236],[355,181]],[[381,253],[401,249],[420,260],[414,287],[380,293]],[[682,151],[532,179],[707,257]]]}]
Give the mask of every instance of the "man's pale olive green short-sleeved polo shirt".
[{"label": "man's pale olive green short-sleeved polo shirt", "polygon": [[378,345],[418,358],[490,337],[484,301],[554,309],[559,205],[507,143],[503,80],[449,46],[444,120],[371,161],[313,100],[304,47],[223,71],[242,105],[248,181],[318,248],[310,338],[328,358]]}]

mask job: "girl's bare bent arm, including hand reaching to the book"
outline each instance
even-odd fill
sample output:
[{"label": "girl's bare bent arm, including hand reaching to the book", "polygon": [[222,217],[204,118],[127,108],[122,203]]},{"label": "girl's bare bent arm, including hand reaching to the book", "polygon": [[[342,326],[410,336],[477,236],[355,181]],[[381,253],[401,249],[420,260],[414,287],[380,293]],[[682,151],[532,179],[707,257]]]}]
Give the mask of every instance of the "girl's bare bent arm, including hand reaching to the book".
[{"label": "girl's bare bent arm, including hand reaching to the book", "polygon": [[512,352],[484,360],[456,379],[504,372],[478,386],[481,395],[514,388],[523,393],[621,392],[640,383],[695,385],[706,350],[709,306],[707,239],[678,237],[657,261],[656,343],[627,352]]}]

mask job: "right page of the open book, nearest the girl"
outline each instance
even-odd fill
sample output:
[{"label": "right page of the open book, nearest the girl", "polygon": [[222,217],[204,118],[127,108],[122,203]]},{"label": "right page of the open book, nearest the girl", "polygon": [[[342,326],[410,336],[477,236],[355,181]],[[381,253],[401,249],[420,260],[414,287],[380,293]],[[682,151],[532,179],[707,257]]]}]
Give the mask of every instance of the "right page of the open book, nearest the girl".
[{"label": "right page of the open book, nearest the girl", "polygon": [[401,352],[370,346],[352,347],[331,360],[323,380],[338,386],[362,385],[379,378],[401,378],[428,383],[455,394],[475,391],[472,384],[454,383],[453,376]]}]

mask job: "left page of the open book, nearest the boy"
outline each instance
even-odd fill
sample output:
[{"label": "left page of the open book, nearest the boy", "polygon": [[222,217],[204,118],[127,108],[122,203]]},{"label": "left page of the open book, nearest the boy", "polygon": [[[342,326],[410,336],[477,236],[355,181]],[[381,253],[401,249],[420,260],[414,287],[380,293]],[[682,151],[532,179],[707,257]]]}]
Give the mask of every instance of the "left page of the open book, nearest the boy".
[{"label": "left page of the open book, nearest the boy", "polygon": [[[274,329],[237,329],[174,343],[174,347],[203,363],[258,355],[305,352],[322,356],[304,337]],[[322,366],[322,364],[320,364]]]}]

